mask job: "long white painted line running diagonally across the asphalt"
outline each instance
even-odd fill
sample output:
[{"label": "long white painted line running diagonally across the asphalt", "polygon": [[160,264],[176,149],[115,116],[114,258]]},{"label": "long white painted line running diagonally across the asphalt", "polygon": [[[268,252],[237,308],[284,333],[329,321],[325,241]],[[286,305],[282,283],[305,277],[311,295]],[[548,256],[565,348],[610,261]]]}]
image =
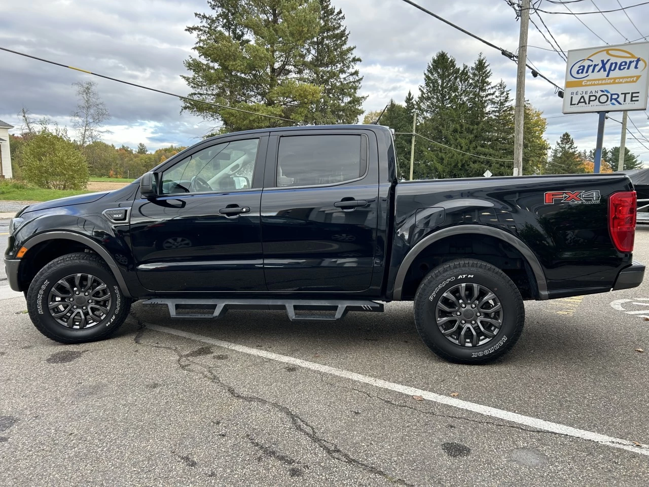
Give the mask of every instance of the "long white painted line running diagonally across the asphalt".
[{"label": "long white painted line running diagonally across the asphalt", "polygon": [[146,327],[155,331],[182,336],[184,338],[190,338],[190,340],[197,340],[199,342],[210,343],[211,345],[217,345],[218,347],[224,347],[241,353],[269,358],[270,360],[276,360],[277,362],[284,362],[285,364],[291,364],[303,367],[305,369],[315,370],[321,373],[336,375],[337,377],[344,377],[345,379],[350,379],[351,381],[363,382],[371,386],[400,392],[410,396],[419,395],[424,399],[427,399],[428,401],[433,401],[435,403],[447,406],[453,406],[467,411],[476,412],[478,414],[484,414],[485,416],[491,416],[493,418],[504,419],[505,421],[510,421],[511,423],[526,425],[535,429],[563,434],[565,436],[572,436],[574,438],[581,438],[582,440],[600,443],[600,445],[620,448],[623,450],[633,451],[633,453],[640,453],[641,455],[649,456],[649,445],[644,445],[642,443],[630,442],[629,440],[622,440],[621,438],[606,436],[606,434],[599,434],[593,431],[586,431],[583,429],[561,425],[559,423],[552,423],[550,421],[545,421],[544,419],[532,418],[531,416],[523,416],[522,414],[517,414],[515,412],[492,408],[490,406],[483,406],[480,404],[471,403],[469,401],[463,401],[462,399],[456,399],[454,397],[448,397],[434,392],[425,391],[410,386],[404,386],[402,384],[395,384],[395,382],[376,379],[374,377],[369,377],[368,375],[361,375],[355,372],[325,366],[322,364],[317,364],[315,362],[309,362],[308,360],[302,360],[300,358],[279,355],[278,353],[245,347],[244,345],[237,345],[236,343],[223,342],[222,340],[216,340],[215,338],[210,338],[208,336],[197,335],[195,333],[180,331],[168,327],[161,327],[159,325],[147,324]]}]

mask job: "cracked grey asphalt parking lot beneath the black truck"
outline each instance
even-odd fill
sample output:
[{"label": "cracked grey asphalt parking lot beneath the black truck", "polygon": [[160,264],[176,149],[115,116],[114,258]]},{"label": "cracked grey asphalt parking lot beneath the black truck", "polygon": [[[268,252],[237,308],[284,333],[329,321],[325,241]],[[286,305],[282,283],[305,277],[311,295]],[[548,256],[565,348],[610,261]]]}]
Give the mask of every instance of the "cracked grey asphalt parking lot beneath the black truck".
[{"label": "cracked grey asphalt parking lot beneath the black truck", "polygon": [[327,324],[136,303],[112,340],[60,345],[2,286],[3,486],[649,484],[649,279],[527,302],[487,366],[432,355],[411,303]]}]

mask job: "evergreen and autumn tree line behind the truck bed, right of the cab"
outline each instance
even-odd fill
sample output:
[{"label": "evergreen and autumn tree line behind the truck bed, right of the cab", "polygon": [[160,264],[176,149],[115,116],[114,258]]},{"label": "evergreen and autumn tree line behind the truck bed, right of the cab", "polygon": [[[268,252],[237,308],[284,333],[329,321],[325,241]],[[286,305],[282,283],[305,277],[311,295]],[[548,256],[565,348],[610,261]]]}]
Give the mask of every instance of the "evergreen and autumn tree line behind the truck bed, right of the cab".
[{"label": "evergreen and autumn tree line behind the truck bed, right of the cab", "polygon": [[[410,179],[413,118],[417,116],[413,179],[480,177],[513,171],[514,107],[502,79],[492,81],[485,58],[467,66],[440,51],[424,72],[417,97],[408,92],[404,103],[391,100],[385,110],[369,112],[364,123],[395,129],[399,177]],[[529,102],[523,129],[523,174],[593,172],[594,150],[578,151],[570,134],[563,134],[550,152],[545,138],[547,121]],[[602,170],[617,168],[619,147],[602,151]],[[637,156],[625,151],[624,169],[641,167]],[[613,164],[613,162],[615,163]],[[611,164],[609,164],[611,162]]]}]

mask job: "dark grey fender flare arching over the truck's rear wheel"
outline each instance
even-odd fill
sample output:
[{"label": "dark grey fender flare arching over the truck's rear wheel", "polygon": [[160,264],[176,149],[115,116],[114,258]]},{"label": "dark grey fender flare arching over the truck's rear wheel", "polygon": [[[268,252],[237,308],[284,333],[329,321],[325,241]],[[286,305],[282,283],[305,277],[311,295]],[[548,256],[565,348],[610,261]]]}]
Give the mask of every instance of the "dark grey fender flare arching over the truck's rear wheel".
[{"label": "dark grey fender flare arching over the truck's rear wheel", "polygon": [[448,229],[434,232],[433,234],[430,234],[417,242],[417,244],[412,247],[410,252],[408,252],[408,255],[406,255],[406,258],[404,258],[403,262],[399,266],[397,277],[395,278],[393,299],[395,301],[400,301],[404,281],[406,280],[406,273],[408,273],[408,269],[410,269],[410,265],[413,263],[415,258],[417,258],[417,256],[426,247],[428,247],[428,245],[437,242],[437,240],[463,233],[487,234],[489,236],[500,238],[500,240],[504,240],[505,242],[512,245],[522,254],[522,256],[527,260],[528,264],[530,264],[530,268],[532,269],[532,272],[534,273],[534,277],[536,279],[537,287],[539,288],[539,299],[549,299],[548,283],[545,280],[545,273],[543,273],[541,262],[539,262],[539,259],[537,258],[535,253],[533,253],[532,249],[530,249],[530,247],[528,247],[526,243],[522,242],[522,240],[513,236],[511,233],[496,229],[494,227],[487,227],[485,225],[458,225],[457,227],[450,227]]}]

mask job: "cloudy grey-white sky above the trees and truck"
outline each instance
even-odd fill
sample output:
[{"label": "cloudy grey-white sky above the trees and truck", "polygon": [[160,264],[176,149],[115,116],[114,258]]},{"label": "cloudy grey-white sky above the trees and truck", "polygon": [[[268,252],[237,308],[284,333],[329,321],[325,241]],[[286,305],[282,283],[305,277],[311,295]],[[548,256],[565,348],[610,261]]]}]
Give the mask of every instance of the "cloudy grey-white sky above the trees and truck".
[{"label": "cloudy grey-white sky above the trees and truck", "polygon": [[[515,87],[516,65],[498,51],[427,16],[401,0],[334,0],[343,9],[350,42],[357,46],[363,62],[362,93],[368,95],[366,110],[383,108],[390,98],[403,101],[412,90],[418,92],[423,71],[430,58],[445,50],[459,62],[470,64],[483,52],[495,81],[504,79]],[[519,24],[504,0],[418,0],[440,16],[479,36],[515,51]],[[595,0],[601,10],[619,8],[617,0]],[[622,5],[640,3],[620,0]],[[206,0],[23,0],[3,2],[0,15],[0,46],[63,64],[171,92],[186,94],[180,79],[191,53],[193,37],[184,31],[195,23],[194,12],[207,10]],[[541,8],[567,12],[561,5],[543,1]],[[571,3],[574,12],[595,10],[593,2]],[[639,33],[624,12],[580,16],[583,22],[609,44],[634,41],[649,36],[649,5],[627,11],[641,30]],[[579,49],[602,45],[578,18],[570,15],[541,14],[561,47]],[[533,17],[539,27],[537,18]],[[610,21],[610,23],[608,22]],[[612,24],[612,25],[611,25]],[[619,31],[617,32],[616,29]],[[528,58],[559,85],[563,85],[565,62],[548,48],[530,25]],[[167,95],[147,92],[79,71],[59,68],[0,51],[0,119],[16,125],[21,107],[36,116],[47,116],[69,125],[69,113],[76,99],[71,84],[92,79],[105,101],[112,119],[104,140],[135,147],[143,142],[149,149],[164,145],[189,145],[210,131],[210,123],[180,114],[180,102]],[[595,144],[596,114],[561,116],[561,99],[554,88],[540,78],[527,77],[526,97],[548,118],[546,136],[554,145],[569,131],[580,149]],[[612,114],[621,119],[621,114]],[[629,138],[628,147],[649,161],[649,119],[646,112],[631,112],[631,131],[642,140]],[[14,132],[16,132],[14,129]],[[618,145],[620,124],[607,121],[604,144]]]}]

